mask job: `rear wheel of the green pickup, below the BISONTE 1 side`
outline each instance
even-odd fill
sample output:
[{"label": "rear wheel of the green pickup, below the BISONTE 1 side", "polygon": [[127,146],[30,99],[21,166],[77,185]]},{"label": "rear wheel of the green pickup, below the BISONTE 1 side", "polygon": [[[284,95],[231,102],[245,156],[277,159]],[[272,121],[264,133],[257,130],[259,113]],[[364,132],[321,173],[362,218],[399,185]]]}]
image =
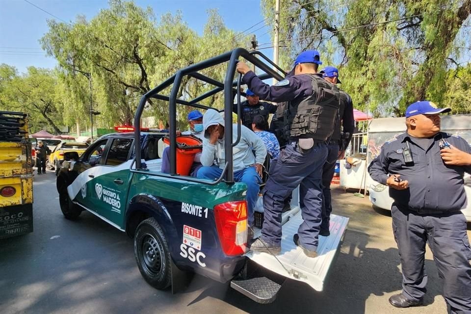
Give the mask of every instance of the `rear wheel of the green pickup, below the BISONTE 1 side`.
[{"label": "rear wheel of the green pickup, below the BISONTE 1 side", "polygon": [[162,228],[154,218],[142,221],[134,235],[134,256],[145,281],[156,289],[172,283],[170,250]]}]

